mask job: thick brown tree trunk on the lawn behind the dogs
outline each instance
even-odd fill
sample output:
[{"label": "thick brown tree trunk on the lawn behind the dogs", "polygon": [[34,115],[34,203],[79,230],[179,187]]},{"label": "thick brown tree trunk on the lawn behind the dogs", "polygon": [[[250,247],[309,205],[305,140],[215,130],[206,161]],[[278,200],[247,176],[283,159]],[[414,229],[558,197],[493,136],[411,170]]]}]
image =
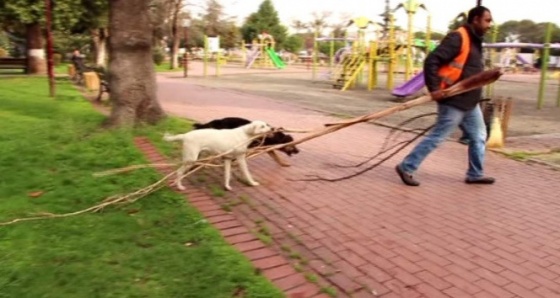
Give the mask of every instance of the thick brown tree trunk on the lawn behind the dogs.
[{"label": "thick brown tree trunk on the lawn behind the dogs", "polygon": [[109,126],[153,124],[165,117],[156,97],[150,2],[109,2]]}]

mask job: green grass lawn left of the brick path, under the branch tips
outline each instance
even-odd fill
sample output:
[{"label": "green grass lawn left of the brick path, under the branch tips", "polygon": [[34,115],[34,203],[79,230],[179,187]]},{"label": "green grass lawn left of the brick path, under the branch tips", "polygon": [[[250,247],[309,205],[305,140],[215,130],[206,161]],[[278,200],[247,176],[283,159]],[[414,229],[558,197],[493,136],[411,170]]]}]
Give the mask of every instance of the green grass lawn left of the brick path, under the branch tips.
[{"label": "green grass lawn left of the brick path, under the branch tips", "polygon": [[[53,100],[45,78],[0,77],[0,222],[73,212],[147,186],[161,177],[152,169],[92,174],[146,163],[135,135],[159,140],[188,128],[168,119],[100,129],[104,116],[58,83]],[[101,213],[0,226],[0,297],[283,296],[202,219],[166,188]]]}]

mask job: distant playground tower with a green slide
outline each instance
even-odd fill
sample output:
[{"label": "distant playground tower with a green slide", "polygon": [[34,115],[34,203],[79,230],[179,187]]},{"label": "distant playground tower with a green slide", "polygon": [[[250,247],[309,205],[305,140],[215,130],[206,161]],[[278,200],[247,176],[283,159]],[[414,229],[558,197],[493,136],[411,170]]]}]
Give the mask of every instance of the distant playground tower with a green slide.
[{"label": "distant playground tower with a green slide", "polygon": [[272,35],[266,32],[259,34],[251,44],[251,52],[247,54],[245,67],[251,68],[253,65],[262,68],[276,67],[278,69],[286,67],[284,61],[274,51],[274,44]]}]

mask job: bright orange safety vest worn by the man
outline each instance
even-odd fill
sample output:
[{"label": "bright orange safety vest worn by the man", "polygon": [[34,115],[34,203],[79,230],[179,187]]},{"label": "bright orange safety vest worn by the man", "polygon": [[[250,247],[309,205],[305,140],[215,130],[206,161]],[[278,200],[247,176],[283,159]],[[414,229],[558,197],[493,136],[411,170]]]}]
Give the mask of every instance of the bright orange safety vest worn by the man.
[{"label": "bright orange safety vest worn by the man", "polygon": [[445,89],[459,80],[471,50],[471,38],[467,29],[465,27],[461,27],[457,29],[457,32],[461,34],[461,50],[459,55],[457,55],[451,63],[444,65],[439,69],[438,75],[441,78],[441,89]]}]

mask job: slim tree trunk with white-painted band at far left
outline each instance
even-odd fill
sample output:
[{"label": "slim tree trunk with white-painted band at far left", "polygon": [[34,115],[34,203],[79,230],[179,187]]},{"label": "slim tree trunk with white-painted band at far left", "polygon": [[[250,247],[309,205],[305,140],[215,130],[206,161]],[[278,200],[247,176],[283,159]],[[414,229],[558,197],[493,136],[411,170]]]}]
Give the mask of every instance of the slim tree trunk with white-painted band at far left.
[{"label": "slim tree trunk with white-painted band at far left", "polygon": [[27,73],[46,74],[44,39],[39,23],[26,25],[27,31]]}]

